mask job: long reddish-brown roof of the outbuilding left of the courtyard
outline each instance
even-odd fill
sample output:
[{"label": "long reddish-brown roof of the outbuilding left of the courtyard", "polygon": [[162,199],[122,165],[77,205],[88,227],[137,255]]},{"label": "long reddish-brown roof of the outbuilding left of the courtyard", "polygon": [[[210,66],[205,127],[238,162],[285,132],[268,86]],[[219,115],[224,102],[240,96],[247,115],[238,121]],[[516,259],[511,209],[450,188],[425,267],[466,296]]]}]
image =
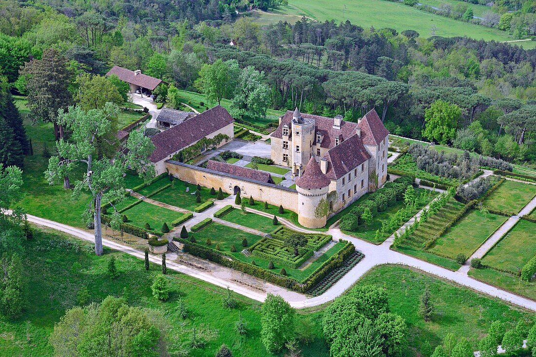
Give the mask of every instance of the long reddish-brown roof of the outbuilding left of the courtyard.
[{"label": "long reddish-brown roof of the outbuilding left of the courtyard", "polygon": [[151,138],[155,149],[149,157],[158,162],[211,133],[232,124],[234,119],[222,106],[215,106]]}]

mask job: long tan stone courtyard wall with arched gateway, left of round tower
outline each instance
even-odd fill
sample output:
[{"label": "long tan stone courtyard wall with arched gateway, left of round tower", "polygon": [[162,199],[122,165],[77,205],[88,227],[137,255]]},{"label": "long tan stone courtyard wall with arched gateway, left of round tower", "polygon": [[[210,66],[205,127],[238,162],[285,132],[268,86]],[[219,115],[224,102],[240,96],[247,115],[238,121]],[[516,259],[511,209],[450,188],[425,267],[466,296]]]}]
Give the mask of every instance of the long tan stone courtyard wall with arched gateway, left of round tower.
[{"label": "long tan stone courtyard wall with arched gateway, left of round tower", "polygon": [[287,210],[297,212],[298,193],[293,189],[173,160],[166,161],[166,169],[169,174],[192,184],[213,187],[215,190],[221,187],[229,195],[234,195],[235,187],[239,187],[242,198],[252,196],[257,201],[282,205]]}]

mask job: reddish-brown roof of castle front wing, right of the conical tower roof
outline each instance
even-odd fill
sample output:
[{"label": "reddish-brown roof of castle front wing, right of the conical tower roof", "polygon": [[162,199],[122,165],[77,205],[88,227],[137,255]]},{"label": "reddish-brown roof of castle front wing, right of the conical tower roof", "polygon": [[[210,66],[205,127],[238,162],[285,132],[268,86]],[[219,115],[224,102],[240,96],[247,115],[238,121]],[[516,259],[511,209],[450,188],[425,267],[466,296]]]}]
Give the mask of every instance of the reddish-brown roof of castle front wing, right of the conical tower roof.
[{"label": "reddish-brown roof of castle front wing, right of the conical tower roof", "polygon": [[361,138],[355,134],[331,148],[324,155],[327,160],[326,176],[331,180],[343,177],[370,158]]}]

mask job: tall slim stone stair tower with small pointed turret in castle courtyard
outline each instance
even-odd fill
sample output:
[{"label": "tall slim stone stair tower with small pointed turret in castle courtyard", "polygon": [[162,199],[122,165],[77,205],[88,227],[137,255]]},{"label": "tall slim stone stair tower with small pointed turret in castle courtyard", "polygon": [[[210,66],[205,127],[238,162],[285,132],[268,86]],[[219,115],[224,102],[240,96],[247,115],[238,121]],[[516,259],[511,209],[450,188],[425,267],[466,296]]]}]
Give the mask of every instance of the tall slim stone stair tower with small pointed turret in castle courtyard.
[{"label": "tall slim stone stair tower with small pointed turret in castle courtyard", "polygon": [[303,174],[312,155],[312,144],[315,142],[315,120],[302,117],[298,108],[292,115],[292,172],[294,176]]}]

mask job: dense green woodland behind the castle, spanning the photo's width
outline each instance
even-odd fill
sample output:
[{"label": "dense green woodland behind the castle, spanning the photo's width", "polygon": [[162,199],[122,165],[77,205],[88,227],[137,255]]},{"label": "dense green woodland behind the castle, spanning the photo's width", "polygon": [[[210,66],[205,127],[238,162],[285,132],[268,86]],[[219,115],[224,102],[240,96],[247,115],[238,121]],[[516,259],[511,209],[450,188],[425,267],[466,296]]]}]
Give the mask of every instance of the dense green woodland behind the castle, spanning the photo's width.
[{"label": "dense green woodland behind the castle, spanning the photo's width", "polygon": [[[209,94],[202,68],[233,60],[241,69],[257,70],[268,87],[263,95],[267,92],[269,109],[298,107],[355,121],[376,108],[396,135],[535,165],[536,50],[424,38],[412,29],[398,33],[349,21],[302,18],[294,25],[260,26],[245,12],[278,4],[2,0],[0,73],[13,94],[27,95],[21,68],[53,48],[66,59],[72,93],[84,73],[103,75],[119,65]],[[527,9],[525,3],[515,6]],[[238,46],[228,46],[230,40]],[[158,101],[168,100],[167,93],[160,94]],[[227,91],[223,98],[233,95]],[[265,109],[255,111],[263,115]],[[243,110],[232,114],[247,120],[239,118]],[[443,119],[434,121],[437,117]],[[424,130],[427,123],[449,135],[434,136],[434,130]]]}]

